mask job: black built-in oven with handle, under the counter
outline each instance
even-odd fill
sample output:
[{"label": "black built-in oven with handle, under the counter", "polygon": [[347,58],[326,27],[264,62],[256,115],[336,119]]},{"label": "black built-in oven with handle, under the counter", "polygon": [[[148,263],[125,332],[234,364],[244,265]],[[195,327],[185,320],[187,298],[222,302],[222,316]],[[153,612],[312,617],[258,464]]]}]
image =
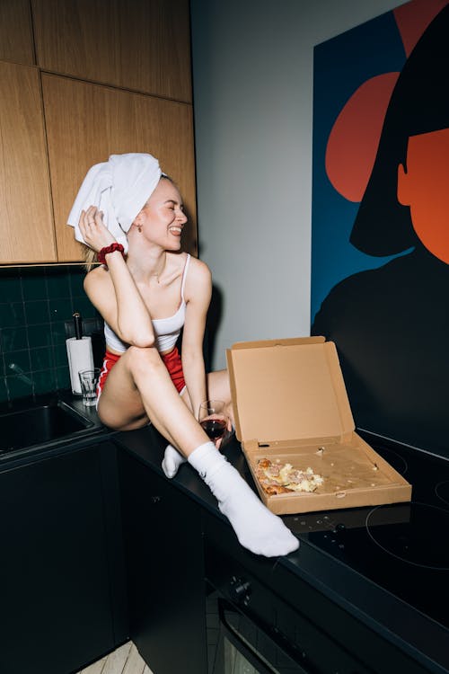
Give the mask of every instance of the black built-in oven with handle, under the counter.
[{"label": "black built-in oven with handle, under the counter", "polygon": [[209,674],[373,674],[223,549],[206,550]]}]

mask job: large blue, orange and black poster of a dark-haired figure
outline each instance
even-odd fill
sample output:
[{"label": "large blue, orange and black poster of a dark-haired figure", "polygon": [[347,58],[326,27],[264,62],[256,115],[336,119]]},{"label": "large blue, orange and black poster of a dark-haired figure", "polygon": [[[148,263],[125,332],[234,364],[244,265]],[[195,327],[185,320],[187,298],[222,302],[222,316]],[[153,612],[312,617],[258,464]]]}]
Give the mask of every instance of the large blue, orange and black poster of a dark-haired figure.
[{"label": "large blue, orange and black poster of a dark-haired figure", "polygon": [[449,456],[449,4],[314,49],[312,330],[357,428]]}]

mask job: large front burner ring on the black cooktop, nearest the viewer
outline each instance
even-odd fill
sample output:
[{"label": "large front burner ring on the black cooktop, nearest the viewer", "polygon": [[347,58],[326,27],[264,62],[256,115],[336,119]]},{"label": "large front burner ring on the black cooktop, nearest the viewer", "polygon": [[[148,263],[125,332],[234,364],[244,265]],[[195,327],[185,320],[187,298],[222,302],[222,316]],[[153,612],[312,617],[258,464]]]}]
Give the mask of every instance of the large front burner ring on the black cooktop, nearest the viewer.
[{"label": "large front burner ring on the black cooktop, nearest the viewer", "polygon": [[445,532],[449,530],[449,510],[413,501],[404,505],[409,506],[409,519],[390,524],[385,524],[384,519],[388,505],[370,510],[365,519],[368,536],[383,552],[401,562],[449,571],[449,551],[444,543]]}]

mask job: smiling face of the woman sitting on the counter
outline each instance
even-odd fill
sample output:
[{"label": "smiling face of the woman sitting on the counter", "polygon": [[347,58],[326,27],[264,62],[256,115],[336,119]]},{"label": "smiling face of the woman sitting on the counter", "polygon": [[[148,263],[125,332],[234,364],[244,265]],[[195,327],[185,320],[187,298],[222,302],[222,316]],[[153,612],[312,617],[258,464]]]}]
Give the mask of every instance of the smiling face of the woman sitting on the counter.
[{"label": "smiling face of the woman sitting on the counter", "polygon": [[180,192],[165,178],[158,182],[135,220],[148,241],[167,250],[180,249],[180,236],[186,222]]}]

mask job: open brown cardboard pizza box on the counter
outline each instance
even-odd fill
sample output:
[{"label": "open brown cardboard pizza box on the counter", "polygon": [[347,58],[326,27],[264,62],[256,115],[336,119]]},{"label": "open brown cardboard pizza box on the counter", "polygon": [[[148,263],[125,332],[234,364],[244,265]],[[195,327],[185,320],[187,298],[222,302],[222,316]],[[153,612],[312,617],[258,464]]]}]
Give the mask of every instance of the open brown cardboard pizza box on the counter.
[{"label": "open brown cardboard pizza box on the counter", "polygon": [[[410,500],[411,485],[355,431],[332,341],[239,342],[226,358],[236,436],[269,510],[281,515]],[[258,477],[261,459],[311,468],[322,483],[313,492],[270,495]]]}]

